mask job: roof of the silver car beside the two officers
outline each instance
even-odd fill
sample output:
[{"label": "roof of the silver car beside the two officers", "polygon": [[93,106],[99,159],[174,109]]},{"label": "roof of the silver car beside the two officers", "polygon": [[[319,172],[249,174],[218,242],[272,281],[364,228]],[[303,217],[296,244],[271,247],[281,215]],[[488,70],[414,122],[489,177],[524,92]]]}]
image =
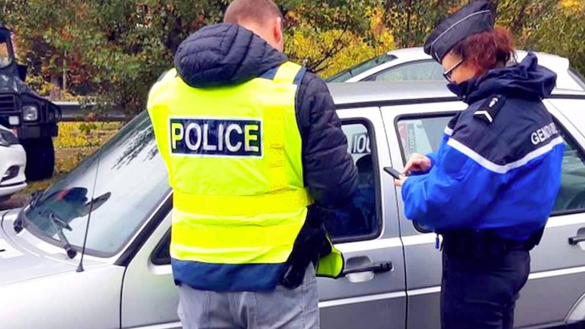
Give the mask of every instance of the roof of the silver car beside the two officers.
[{"label": "roof of the silver car beside the two officers", "polygon": [[[459,100],[445,83],[437,81],[330,83],[328,87],[339,108]],[[555,89],[553,97],[585,98],[585,92]]]}]

